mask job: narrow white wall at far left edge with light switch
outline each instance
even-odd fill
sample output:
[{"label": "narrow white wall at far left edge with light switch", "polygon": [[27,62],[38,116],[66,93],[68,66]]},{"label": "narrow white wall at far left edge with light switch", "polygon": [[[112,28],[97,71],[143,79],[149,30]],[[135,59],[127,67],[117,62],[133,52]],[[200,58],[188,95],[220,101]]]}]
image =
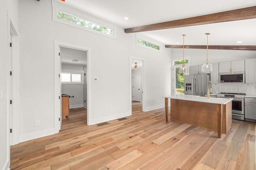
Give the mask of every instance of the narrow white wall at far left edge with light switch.
[{"label": "narrow white wall at far left edge with light switch", "polygon": [[7,170],[10,166],[10,144],[9,144],[9,117],[8,117],[8,87],[7,76],[9,73],[8,50],[9,50],[9,34],[10,23],[12,21],[16,31],[18,31],[18,0],[8,0],[0,2],[0,92],[2,92],[2,100],[0,100],[0,169]]}]

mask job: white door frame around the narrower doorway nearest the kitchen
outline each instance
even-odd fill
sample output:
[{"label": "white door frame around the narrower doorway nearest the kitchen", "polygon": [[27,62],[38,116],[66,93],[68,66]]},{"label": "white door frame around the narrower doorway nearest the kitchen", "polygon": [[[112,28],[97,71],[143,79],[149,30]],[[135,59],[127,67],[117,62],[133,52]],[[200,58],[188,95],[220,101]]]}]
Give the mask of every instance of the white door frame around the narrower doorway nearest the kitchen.
[{"label": "white door frame around the narrower doorway nearest the kitchen", "polygon": [[130,66],[129,66],[129,72],[130,72],[130,114],[132,115],[132,61],[136,59],[138,61],[142,61],[142,75],[140,78],[143,77],[143,84],[141,85],[142,87],[142,111],[145,111],[146,106],[145,106],[145,99],[146,99],[146,60],[143,58],[139,57],[133,57],[130,56]]}]

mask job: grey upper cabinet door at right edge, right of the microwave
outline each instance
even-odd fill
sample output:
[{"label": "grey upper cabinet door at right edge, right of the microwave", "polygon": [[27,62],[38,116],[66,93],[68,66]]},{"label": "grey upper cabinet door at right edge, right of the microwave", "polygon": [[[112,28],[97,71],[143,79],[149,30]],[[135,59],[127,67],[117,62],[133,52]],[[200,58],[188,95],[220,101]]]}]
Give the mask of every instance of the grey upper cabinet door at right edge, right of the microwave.
[{"label": "grey upper cabinet door at right edge, right of the microwave", "polygon": [[245,60],[245,83],[256,83],[256,59]]}]

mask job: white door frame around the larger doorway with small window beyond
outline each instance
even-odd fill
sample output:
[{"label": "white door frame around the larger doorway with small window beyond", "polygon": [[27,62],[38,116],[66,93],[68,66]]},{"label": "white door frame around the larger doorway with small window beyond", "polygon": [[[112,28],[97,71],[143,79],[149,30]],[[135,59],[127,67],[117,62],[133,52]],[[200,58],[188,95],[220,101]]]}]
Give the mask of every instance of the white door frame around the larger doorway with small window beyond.
[{"label": "white door frame around the larger doorway with small window beyond", "polygon": [[[62,73],[62,60],[61,60],[61,49],[63,51],[63,48],[66,49],[72,49],[72,50],[78,50],[78,51],[86,51],[87,57],[86,57],[86,67],[83,67],[85,70],[84,72],[87,73],[86,75],[86,101],[87,104],[87,113],[86,113],[86,119],[87,119],[87,125],[90,125],[90,51],[91,49],[89,47],[82,47],[79,45],[72,45],[69,43],[54,41],[54,117],[55,117],[55,129],[56,131],[59,131],[61,128],[62,123],[62,104],[61,104],[61,96],[62,96],[62,81],[61,81],[61,73]],[[73,60],[73,59],[72,59]],[[76,62],[76,59],[74,59]],[[84,74],[84,73],[83,73]],[[75,75],[77,76],[77,75]],[[84,75],[82,75],[84,77]],[[84,95],[83,95],[84,98]],[[84,104],[82,104],[84,106]]]}]

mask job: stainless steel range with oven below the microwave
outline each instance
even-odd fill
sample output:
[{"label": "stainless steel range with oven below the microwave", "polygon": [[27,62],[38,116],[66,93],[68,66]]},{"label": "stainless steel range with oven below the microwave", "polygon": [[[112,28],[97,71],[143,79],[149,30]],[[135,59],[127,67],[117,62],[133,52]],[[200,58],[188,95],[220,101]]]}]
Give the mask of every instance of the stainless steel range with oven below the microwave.
[{"label": "stainless steel range with oven below the microwave", "polygon": [[244,96],[243,93],[220,93],[217,98],[233,98],[232,100],[232,119],[244,121]]}]

